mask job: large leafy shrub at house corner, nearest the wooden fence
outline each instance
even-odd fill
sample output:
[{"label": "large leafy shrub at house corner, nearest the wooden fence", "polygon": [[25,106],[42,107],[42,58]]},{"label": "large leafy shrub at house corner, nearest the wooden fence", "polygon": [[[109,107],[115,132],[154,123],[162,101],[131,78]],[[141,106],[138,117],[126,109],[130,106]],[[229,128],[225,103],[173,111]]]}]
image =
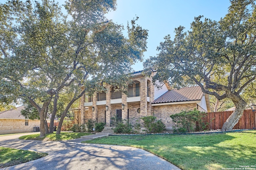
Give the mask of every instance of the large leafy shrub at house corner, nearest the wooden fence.
[{"label": "large leafy shrub at house corner, nearest the wooden fence", "polygon": [[209,123],[205,123],[204,119],[207,113],[194,109],[192,111],[182,111],[170,115],[173,122],[176,123],[174,126],[174,132],[186,133],[192,131],[203,131],[206,130]]}]

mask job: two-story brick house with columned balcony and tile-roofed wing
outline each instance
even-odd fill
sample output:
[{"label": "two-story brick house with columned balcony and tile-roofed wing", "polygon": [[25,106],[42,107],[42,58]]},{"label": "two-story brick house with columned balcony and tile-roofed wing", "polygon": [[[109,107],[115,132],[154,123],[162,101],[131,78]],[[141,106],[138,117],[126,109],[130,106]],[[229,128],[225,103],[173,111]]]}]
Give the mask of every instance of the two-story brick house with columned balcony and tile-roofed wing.
[{"label": "two-story brick house with columned balcony and tile-roofed wing", "polygon": [[154,115],[162,119],[166,129],[172,129],[171,114],[194,108],[210,112],[210,102],[199,86],[171,90],[168,84],[158,89],[152,79],[143,76],[142,71],[132,74],[133,83],[128,86],[128,94],[115,91],[115,87],[106,85],[106,93],[81,98],[81,123],[88,119],[105,122],[109,127],[111,117],[129,119],[130,123],[140,117]]}]

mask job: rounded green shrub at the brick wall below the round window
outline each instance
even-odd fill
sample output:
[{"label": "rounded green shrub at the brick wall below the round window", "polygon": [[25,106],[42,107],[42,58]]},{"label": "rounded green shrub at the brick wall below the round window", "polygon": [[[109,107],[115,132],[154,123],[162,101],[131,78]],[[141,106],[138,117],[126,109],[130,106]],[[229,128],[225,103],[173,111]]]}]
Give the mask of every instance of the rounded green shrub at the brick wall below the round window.
[{"label": "rounded green shrub at the brick wall below the round window", "polygon": [[144,121],[144,126],[147,129],[146,133],[160,133],[164,131],[165,125],[162,120],[156,120],[154,116],[146,116],[141,118]]}]

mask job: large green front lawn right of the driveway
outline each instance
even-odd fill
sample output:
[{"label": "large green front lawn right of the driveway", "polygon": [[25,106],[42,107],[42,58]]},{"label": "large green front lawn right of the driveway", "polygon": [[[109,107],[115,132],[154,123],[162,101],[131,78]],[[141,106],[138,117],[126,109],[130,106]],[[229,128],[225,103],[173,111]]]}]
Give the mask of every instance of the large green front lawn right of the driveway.
[{"label": "large green front lawn right of the driveway", "polygon": [[256,131],[204,135],[122,135],[84,143],[137,147],[183,170],[221,170],[256,165]]}]

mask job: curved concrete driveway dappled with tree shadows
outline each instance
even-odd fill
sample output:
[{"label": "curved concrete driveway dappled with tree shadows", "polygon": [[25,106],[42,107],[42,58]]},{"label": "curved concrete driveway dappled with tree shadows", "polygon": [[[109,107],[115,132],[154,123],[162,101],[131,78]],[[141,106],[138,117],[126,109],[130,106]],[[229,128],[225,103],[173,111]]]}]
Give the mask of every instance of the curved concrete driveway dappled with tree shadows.
[{"label": "curved concrete driveway dappled with tree shadows", "polygon": [[0,137],[0,146],[47,152],[48,156],[1,170],[180,170],[145,150],[117,145],[70,141],[19,140],[22,135]]}]

